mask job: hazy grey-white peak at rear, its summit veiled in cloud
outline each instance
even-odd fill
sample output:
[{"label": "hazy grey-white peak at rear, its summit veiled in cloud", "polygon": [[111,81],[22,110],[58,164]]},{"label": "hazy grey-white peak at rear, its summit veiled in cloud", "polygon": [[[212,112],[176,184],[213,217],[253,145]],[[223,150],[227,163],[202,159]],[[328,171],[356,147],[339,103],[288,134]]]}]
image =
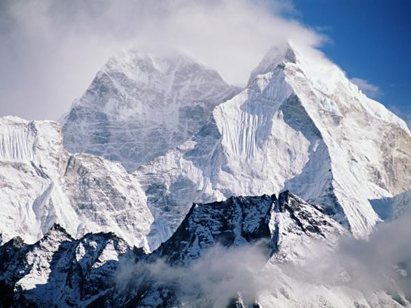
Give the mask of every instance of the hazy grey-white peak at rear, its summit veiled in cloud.
[{"label": "hazy grey-white peak at rear, its summit veiled in cloud", "polygon": [[238,92],[184,55],[123,53],[62,119],[64,145],[135,170],[189,139],[216,105]]}]

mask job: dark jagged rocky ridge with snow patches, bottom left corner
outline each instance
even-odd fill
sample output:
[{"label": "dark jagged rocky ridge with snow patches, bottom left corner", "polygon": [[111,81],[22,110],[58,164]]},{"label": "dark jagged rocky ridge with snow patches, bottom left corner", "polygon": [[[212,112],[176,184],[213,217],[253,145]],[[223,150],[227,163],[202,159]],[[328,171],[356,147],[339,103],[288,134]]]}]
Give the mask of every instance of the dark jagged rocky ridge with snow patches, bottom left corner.
[{"label": "dark jagged rocky ridge with snow patches, bottom left corner", "polygon": [[0,256],[0,305],[16,307],[87,304],[113,286],[119,260],[134,261],[131,247],[113,233],[75,240],[58,224],[34,244],[10,240]]}]

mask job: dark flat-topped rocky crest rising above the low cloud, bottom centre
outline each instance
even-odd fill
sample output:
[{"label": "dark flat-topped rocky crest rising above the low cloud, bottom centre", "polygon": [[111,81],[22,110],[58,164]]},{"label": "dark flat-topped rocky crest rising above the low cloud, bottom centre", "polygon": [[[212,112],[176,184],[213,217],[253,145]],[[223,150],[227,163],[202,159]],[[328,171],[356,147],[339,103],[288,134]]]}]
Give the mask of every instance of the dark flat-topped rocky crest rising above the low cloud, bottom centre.
[{"label": "dark flat-topped rocky crest rising above the low cloud, bottom centre", "polygon": [[153,255],[172,265],[187,265],[208,248],[239,247],[263,241],[267,258],[291,261],[303,257],[305,242],[327,239],[347,231],[321,207],[289,191],[259,197],[231,197],[193,204],[174,234]]}]

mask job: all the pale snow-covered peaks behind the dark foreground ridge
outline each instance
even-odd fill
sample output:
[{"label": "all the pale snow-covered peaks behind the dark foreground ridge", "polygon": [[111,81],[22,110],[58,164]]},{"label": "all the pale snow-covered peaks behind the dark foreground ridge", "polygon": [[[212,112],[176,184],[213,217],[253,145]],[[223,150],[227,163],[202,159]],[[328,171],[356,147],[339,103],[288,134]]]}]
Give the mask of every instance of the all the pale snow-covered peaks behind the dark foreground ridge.
[{"label": "all the pale snow-covered peaks behind the dark foreground ridge", "polygon": [[[411,188],[405,123],[318,53],[273,48],[224,102],[236,91],[185,56],[130,52],[73,104],[64,141],[55,122],[1,118],[3,242],[33,243],[59,223],[75,238],[113,231],[154,250],[193,202],[284,189],[363,236],[379,219],[368,200]],[[154,159],[129,173],[63,143],[129,169]]]}]

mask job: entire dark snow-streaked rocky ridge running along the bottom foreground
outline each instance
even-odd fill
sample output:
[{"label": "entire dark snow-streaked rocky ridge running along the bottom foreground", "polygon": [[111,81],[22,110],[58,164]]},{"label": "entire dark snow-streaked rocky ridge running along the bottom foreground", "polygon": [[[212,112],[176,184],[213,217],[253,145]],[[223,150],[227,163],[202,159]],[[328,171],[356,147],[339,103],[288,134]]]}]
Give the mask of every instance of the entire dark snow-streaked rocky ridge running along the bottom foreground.
[{"label": "entire dark snow-streaked rocky ridge running along the bottom foreground", "polygon": [[[224,249],[233,249],[232,262],[236,253],[244,252],[236,249],[257,247],[266,262],[261,265],[262,271],[270,272],[278,264],[298,264],[309,259],[310,253],[315,253],[313,242],[321,249],[332,249],[336,239],[346,233],[322,208],[288,191],[278,199],[263,195],[193,204],[171,238],[151,254],[132,248],[113,233],[88,233],[76,240],[54,225],[35,244],[27,245],[14,238],[0,247],[0,287],[7,295],[1,297],[0,306],[214,307],[215,299],[207,296],[207,290],[199,288],[193,294],[179,286],[184,281],[159,277],[153,266],[164,264],[160,268],[168,273],[186,268],[189,275],[190,266],[207,259],[207,253],[215,247],[222,247],[223,255],[230,251]],[[270,282],[271,289],[256,293],[251,301],[236,292],[224,294],[224,306],[296,307],[320,302],[324,307],[400,306],[385,292],[375,291],[367,297],[336,286],[312,286],[306,299],[301,299],[293,293],[298,281],[285,273],[278,274]],[[219,279],[214,283],[219,283]],[[409,305],[406,299],[401,300]]]}]

